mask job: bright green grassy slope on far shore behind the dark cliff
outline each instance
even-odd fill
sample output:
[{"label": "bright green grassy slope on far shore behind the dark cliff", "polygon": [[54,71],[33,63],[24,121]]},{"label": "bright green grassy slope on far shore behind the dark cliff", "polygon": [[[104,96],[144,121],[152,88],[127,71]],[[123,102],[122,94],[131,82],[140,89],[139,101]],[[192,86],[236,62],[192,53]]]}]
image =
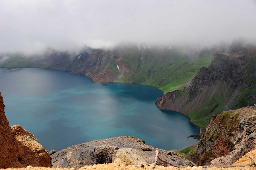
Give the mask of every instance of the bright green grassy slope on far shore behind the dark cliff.
[{"label": "bright green grassy slope on far shore behind the dark cliff", "polygon": [[182,89],[184,86],[189,85],[201,67],[208,67],[211,60],[212,57],[192,61],[185,59],[169,61],[164,64],[155,65],[150,70],[151,74],[148,73],[149,68],[145,67],[133,77],[132,83],[156,86],[164,92]]}]

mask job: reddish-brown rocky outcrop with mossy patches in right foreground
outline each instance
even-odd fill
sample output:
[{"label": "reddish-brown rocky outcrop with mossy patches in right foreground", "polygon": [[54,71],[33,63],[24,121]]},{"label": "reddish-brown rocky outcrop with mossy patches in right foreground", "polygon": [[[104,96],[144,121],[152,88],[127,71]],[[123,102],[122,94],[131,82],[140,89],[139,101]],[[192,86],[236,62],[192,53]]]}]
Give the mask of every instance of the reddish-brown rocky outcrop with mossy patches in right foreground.
[{"label": "reddish-brown rocky outcrop with mossy patches in right foreground", "polygon": [[197,165],[230,165],[254,150],[256,107],[214,115],[197,147],[187,158]]}]

